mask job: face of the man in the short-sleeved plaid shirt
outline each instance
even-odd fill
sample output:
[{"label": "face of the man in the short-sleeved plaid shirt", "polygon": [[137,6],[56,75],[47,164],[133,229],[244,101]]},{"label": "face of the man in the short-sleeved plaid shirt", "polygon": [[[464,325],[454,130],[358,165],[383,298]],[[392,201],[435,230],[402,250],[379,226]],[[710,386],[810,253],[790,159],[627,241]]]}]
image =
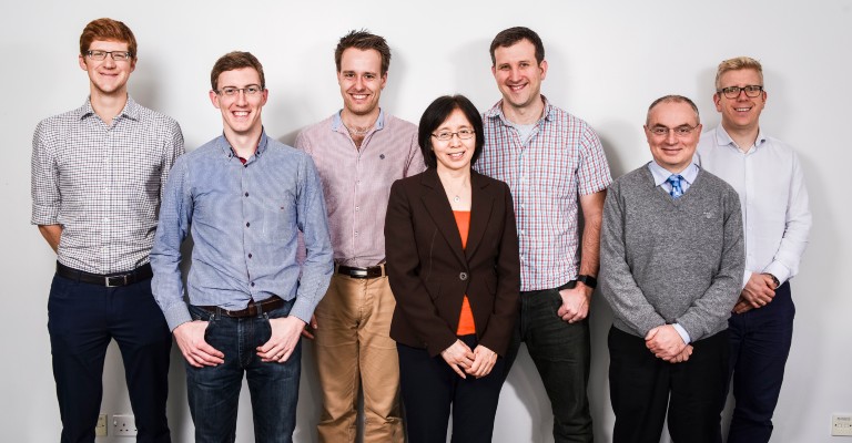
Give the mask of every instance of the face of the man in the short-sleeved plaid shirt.
[{"label": "face of the man in the short-sleeved plaid shirt", "polygon": [[503,100],[516,109],[529,106],[539,100],[541,81],[547,75],[547,61],[536,62],[536,47],[529,40],[520,40],[511,47],[494,50],[491,66]]}]

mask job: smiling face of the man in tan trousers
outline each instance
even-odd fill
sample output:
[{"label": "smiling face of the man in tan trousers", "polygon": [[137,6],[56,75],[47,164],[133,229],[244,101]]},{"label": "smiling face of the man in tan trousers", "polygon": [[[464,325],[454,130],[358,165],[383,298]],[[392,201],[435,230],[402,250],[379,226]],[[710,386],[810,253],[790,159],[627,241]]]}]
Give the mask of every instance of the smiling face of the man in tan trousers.
[{"label": "smiling face of the man in tan trousers", "polygon": [[367,115],[378,107],[378,97],[387,83],[382,75],[382,55],[374,49],[347,48],[341,55],[337,72],[343,106],[355,115]]}]

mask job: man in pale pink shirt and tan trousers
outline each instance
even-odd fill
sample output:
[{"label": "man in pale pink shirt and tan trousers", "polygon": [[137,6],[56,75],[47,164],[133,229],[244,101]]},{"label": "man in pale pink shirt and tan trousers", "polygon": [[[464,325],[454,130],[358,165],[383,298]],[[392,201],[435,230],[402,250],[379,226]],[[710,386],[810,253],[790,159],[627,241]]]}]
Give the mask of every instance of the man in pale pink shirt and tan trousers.
[{"label": "man in pale pink shirt and tan trousers", "polygon": [[321,442],[356,441],[358,387],[364,442],[403,442],[399,364],[390,339],[396,306],[385,275],[384,222],[394,181],[425,169],[417,126],[379,107],[390,49],[352,31],[335,50],[343,110],[304,130],[296,147],[323,182],[335,272],[316,307],[316,363],[323,387]]}]

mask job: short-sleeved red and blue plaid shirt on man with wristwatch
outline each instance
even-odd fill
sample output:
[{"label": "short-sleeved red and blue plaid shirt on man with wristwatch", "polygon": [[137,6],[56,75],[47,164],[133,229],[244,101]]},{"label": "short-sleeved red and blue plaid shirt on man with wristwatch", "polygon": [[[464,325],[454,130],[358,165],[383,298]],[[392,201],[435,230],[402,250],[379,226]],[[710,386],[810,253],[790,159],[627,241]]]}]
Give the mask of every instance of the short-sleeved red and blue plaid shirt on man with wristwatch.
[{"label": "short-sleeved red and blue plaid shirt on man with wristwatch", "polygon": [[483,116],[485,147],[474,168],[511,188],[520,290],[556,288],[577,278],[578,196],[606,189],[612,183],[609,165],[591,126],[546,99],[527,143],[506,120],[501,104]]}]

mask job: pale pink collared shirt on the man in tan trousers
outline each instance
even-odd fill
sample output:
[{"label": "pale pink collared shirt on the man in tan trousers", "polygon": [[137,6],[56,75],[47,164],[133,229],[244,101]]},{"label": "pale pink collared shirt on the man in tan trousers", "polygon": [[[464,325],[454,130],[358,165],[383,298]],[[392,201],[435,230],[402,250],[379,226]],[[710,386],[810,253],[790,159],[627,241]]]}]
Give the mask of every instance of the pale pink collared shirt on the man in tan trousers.
[{"label": "pale pink collared shirt on the man in tan trousers", "polygon": [[417,126],[381,111],[357,148],[337,112],[302,131],[296,147],[313,157],[322,178],[334,260],[358,267],[384,262],[390,185],[426,168]]}]

